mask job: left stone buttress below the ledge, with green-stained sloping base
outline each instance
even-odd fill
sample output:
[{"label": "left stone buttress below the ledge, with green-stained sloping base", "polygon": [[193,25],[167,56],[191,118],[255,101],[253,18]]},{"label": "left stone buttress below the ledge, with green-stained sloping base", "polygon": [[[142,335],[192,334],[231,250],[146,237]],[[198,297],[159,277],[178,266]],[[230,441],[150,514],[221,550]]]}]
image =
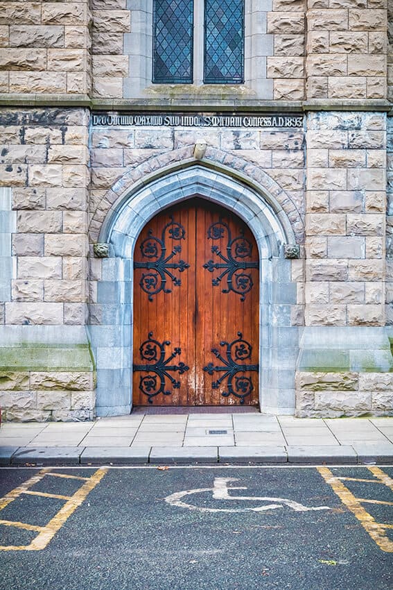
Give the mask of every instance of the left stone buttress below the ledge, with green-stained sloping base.
[{"label": "left stone buttress below the ledge, with green-stained sloping base", "polygon": [[84,109],[0,113],[0,389],[10,419],[27,409],[35,419],[86,419],[94,409],[93,363],[77,329],[87,316],[88,124]]}]

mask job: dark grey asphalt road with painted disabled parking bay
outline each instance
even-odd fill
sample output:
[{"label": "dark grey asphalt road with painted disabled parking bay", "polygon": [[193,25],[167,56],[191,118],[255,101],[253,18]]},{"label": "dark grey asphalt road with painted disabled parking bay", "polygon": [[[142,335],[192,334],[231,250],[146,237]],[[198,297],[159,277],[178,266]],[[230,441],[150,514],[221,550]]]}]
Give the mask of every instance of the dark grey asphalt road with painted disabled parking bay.
[{"label": "dark grey asphalt road with painted disabled parking bay", "polygon": [[[393,478],[393,467],[381,469]],[[366,514],[393,523],[388,480],[376,481],[366,467],[329,470],[352,478],[340,480],[349,491],[343,497],[373,500],[363,503]],[[28,547],[40,534],[47,543],[0,550],[1,590],[393,588],[393,553],[386,550],[393,528],[376,528],[383,550],[365,529],[364,514],[356,516],[313,467],[50,471],[74,477],[0,471],[0,496],[15,496],[0,511],[1,546]],[[33,476],[37,481],[26,485]],[[23,493],[12,492],[20,485]],[[81,486],[91,491],[75,508]],[[247,489],[230,489],[238,486]],[[193,493],[179,494],[187,490]],[[60,518],[66,503],[69,514]],[[49,521],[52,532],[44,528]]]}]

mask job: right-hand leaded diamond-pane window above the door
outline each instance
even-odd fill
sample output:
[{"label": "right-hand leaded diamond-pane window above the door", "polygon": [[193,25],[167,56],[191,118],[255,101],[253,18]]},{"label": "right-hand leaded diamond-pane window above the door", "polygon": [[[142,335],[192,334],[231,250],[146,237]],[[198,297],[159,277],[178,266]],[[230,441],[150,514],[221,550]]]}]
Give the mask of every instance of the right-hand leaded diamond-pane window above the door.
[{"label": "right-hand leaded diamond-pane window above the door", "polygon": [[244,0],[205,0],[204,82],[243,82]]}]

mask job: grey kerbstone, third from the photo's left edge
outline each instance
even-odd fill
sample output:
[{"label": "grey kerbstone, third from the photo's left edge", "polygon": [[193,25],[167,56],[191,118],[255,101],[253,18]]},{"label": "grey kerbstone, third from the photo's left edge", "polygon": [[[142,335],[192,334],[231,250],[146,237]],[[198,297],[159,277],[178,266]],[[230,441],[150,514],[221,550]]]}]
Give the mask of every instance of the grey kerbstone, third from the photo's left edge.
[{"label": "grey kerbstone, third from the photo's left edge", "polygon": [[148,463],[150,446],[121,446],[121,447],[86,447],[80,455],[81,464],[99,465],[113,463],[114,465]]}]

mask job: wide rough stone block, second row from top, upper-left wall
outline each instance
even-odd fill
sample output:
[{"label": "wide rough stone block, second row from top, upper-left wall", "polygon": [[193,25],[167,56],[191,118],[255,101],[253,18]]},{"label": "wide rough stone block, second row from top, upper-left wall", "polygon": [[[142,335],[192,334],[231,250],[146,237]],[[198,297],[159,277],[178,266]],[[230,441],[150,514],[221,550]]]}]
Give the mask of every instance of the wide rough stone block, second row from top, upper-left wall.
[{"label": "wide rough stone block, second row from top, upper-left wall", "polygon": [[10,25],[10,47],[63,47],[64,27]]}]

